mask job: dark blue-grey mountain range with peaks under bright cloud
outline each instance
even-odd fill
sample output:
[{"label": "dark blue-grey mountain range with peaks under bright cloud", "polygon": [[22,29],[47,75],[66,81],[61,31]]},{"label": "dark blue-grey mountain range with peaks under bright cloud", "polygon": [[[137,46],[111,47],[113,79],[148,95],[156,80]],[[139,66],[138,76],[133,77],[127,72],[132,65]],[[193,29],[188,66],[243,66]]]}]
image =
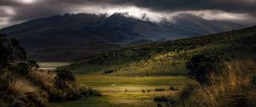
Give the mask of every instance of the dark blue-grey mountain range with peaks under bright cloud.
[{"label": "dark blue-grey mountain range with peaks under bright cloud", "polygon": [[239,29],[227,21],[178,14],[174,23],[135,19],[128,14],[63,14],[28,20],[0,30],[17,38],[29,59],[67,61],[108,53],[142,40],[162,41]]}]

